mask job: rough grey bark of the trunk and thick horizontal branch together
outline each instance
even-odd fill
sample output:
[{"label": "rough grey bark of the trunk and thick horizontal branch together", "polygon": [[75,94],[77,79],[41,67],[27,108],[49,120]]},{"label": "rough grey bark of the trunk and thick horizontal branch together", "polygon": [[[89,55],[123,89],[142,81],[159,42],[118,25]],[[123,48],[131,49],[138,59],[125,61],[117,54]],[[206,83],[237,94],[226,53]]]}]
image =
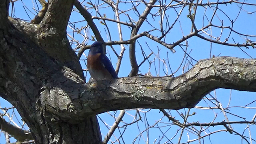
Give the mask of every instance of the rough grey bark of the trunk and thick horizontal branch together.
[{"label": "rough grey bark of the trunk and thick horizontal branch together", "polygon": [[[52,9],[59,3],[67,11],[64,17]],[[66,27],[59,26],[67,24],[72,6],[72,0],[49,1],[50,11],[34,25],[8,20],[7,4],[0,3],[0,96],[17,108],[37,144],[99,144],[95,115],[102,112],[190,108],[218,88],[256,91],[256,60],[231,57],[201,60],[176,78],[84,84]]]}]

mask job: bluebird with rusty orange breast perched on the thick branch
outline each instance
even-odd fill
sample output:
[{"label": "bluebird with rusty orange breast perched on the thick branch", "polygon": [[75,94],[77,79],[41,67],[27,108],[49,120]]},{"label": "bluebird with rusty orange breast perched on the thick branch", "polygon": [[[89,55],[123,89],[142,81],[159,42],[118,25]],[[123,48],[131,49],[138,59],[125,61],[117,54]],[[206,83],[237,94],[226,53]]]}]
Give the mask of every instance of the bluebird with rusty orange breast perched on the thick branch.
[{"label": "bluebird with rusty orange breast perched on the thick branch", "polygon": [[118,78],[110,60],[103,53],[103,43],[93,43],[87,57],[87,69],[94,81]]}]

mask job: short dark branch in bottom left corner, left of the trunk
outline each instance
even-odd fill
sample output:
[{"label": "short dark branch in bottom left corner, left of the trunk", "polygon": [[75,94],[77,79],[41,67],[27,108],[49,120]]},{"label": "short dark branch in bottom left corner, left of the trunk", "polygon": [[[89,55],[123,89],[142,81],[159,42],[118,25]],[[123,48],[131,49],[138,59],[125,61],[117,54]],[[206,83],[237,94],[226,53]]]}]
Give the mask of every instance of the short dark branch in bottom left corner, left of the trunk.
[{"label": "short dark branch in bottom left corner, left of the trunk", "polygon": [[1,130],[8,132],[8,134],[14,136],[17,141],[33,140],[32,134],[26,130],[22,130],[14,125],[10,124],[6,120],[0,117]]}]

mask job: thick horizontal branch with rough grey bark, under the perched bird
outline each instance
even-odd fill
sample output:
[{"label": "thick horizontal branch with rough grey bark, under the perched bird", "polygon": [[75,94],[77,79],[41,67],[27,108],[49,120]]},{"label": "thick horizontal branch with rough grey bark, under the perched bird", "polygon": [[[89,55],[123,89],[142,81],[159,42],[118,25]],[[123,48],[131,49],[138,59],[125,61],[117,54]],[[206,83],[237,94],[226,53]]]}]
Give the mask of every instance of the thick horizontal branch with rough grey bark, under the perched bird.
[{"label": "thick horizontal branch with rough grey bark, under the perched bird", "polygon": [[[60,99],[53,94],[46,93],[55,93],[55,91],[60,93],[60,89],[47,88],[41,93],[41,97],[44,97],[44,101],[49,104],[49,111],[64,119],[87,117],[118,109],[192,108],[214,89],[225,88],[255,92],[255,63],[254,59],[218,57],[201,60],[191,70],[176,78],[119,78],[112,80],[111,83],[98,81],[85,85],[76,84],[71,80],[55,81],[55,85],[73,87],[61,93],[63,102],[56,103]],[[70,75],[70,72],[64,75],[66,76],[63,78]],[[53,76],[54,78],[59,77]]]}]

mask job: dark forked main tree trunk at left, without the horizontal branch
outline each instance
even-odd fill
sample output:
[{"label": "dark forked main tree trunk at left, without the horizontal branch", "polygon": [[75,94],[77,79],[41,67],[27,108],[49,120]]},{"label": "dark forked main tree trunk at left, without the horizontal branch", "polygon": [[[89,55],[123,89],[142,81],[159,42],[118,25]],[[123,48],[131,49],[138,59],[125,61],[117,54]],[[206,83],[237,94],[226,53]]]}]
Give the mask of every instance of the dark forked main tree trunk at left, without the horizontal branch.
[{"label": "dark forked main tree trunk at left, without the horizontal branch", "polygon": [[[72,0],[66,1],[73,3]],[[69,14],[73,4],[70,6],[67,6]],[[61,86],[54,84],[52,75],[55,73],[74,71],[78,74],[79,83],[84,83],[79,60],[66,37],[66,27],[62,29],[63,32],[58,32],[47,23],[32,25],[12,18],[10,22],[7,9],[8,1],[2,0],[0,96],[17,108],[36,144],[102,143],[96,116],[68,122],[50,112],[41,95],[47,87],[61,89]],[[61,97],[48,92],[49,95]],[[58,98],[55,102],[58,102]]]}]

